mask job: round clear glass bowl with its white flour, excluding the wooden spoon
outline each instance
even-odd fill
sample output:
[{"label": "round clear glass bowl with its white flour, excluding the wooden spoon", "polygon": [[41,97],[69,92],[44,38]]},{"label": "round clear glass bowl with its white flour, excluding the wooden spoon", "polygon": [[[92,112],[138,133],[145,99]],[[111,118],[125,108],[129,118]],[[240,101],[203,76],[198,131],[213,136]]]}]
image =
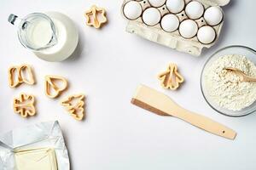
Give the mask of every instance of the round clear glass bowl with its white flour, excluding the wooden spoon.
[{"label": "round clear glass bowl with its white flour, excluding the wooden spoon", "polygon": [[256,111],[256,82],[241,82],[241,77],[225,68],[233,67],[256,77],[256,52],[243,46],[218,50],[201,72],[201,91],[207,103],[226,116],[246,116]]}]

